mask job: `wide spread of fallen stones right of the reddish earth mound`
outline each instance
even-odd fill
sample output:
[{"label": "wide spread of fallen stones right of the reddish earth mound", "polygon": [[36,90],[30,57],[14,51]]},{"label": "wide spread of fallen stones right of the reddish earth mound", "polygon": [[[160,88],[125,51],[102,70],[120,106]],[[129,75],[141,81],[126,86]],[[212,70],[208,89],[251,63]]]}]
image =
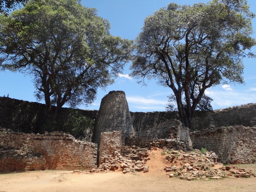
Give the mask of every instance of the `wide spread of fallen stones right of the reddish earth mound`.
[{"label": "wide spread of fallen stones right of the reddish earth mound", "polygon": [[170,178],[179,177],[186,180],[209,180],[221,178],[250,178],[256,177],[251,171],[246,171],[234,165],[224,166],[217,163],[218,156],[214,152],[200,150],[190,152],[164,150],[168,165],[164,168]]}]

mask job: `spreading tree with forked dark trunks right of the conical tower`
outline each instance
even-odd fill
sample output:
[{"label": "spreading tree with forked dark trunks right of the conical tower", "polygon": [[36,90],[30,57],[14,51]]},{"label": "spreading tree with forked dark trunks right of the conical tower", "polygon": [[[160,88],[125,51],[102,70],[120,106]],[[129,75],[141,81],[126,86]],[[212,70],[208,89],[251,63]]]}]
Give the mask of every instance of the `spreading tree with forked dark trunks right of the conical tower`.
[{"label": "spreading tree with forked dark trunks right of the conical tower", "polygon": [[242,58],[254,56],[250,48],[256,45],[249,8],[244,0],[168,4],[145,19],[131,75],[171,88],[180,119],[191,128],[207,88],[243,83]]}]

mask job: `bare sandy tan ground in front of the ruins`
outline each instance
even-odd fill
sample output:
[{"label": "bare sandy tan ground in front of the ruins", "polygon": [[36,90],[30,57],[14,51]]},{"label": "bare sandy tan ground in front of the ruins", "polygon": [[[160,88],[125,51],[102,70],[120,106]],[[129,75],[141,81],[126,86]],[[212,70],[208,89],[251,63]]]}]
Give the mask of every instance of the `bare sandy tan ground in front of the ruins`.
[{"label": "bare sandy tan ground in front of the ruins", "polygon": [[[256,192],[256,178],[187,181],[169,178],[161,150],[150,152],[148,173],[45,170],[0,174],[0,192]],[[240,165],[256,173],[256,164]]]}]

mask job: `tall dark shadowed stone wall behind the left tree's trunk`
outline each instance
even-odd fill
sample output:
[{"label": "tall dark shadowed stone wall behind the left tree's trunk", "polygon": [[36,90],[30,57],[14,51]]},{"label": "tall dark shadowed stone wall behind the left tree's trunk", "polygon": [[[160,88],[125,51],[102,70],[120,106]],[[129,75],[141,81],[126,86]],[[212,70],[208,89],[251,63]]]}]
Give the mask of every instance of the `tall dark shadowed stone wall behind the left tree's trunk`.
[{"label": "tall dark shadowed stone wall behind the left tree's trunk", "polygon": [[[97,110],[62,108],[60,120],[55,125],[56,130],[63,131],[64,122],[66,122],[68,116],[74,111],[92,120],[95,120],[98,114]],[[48,129],[45,104],[7,97],[0,97],[0,126],[16,132],[25,133],[44,134],[45,131],[51,131]],[[79,139],[91,142],[93,127],[85,127],[84,130],[84,135]]]}]

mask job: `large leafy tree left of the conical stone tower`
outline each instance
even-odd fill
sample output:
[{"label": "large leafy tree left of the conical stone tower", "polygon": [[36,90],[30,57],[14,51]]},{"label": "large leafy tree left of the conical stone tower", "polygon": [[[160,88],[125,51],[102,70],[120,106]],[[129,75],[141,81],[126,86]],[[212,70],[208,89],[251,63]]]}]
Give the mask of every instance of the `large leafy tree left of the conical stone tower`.
[{"label": "large leafy tree left of the conical stone tower", "polygon": [[52,120],[64,104],[91,104],[133,51],[131,40],[110,34],[96,9],[75,0],[33,0],[1,16],[0,25],[1,68],[34,77],[35,96]]}]

